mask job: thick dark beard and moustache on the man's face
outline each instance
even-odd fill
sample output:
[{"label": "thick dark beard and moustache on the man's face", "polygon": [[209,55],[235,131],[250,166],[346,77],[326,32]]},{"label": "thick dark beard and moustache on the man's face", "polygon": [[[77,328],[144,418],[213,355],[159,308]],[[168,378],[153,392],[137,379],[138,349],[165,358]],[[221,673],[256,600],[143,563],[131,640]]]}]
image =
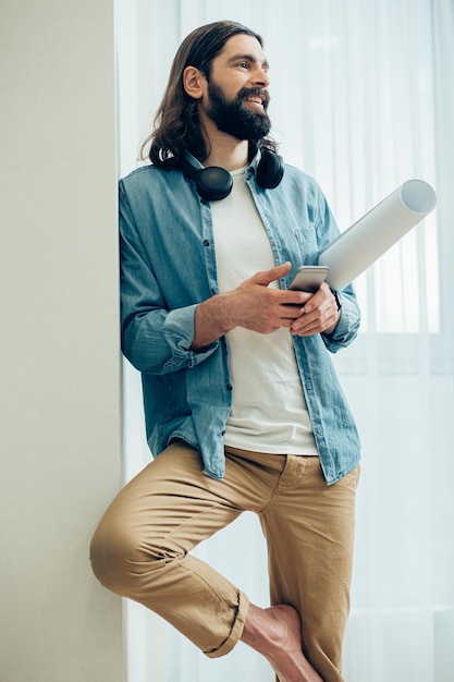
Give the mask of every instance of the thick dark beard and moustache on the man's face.
[{"label": "thick dark beard and moustache on the man's face", "polygon": [[258,87],[244,87],[236,95],[235,99],[228,100],[219,85],[209,81],[208,95],[209,107],[208,115],[216,123],[218,130],[228,133],[236,139],[247,139],[249,142],[258,142],[266,137],[271,130],[271,121],[267,114],[267,108],[270,101],[266,92],[263,100],[263,112],[248,111],[243,100],[250,95],[262,95],[263,90]]}]

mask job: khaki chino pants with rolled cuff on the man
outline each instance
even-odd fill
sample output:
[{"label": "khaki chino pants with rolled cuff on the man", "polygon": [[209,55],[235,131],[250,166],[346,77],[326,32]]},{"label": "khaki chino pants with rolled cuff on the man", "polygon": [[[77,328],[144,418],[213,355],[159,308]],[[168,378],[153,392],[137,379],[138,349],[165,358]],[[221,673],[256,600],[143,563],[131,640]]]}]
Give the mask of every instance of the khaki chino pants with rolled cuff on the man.
[{"label": "khaki chino pants with rolled cuff on the man", "polygon": [[203,473],[199,453],[177,441],[131,480],[91,540],[96,576],[207,656],[223,656],[242,635],[248,598],[189,552],[254,511],[268,545],[271,604],[298,610],[307,658],[324,682],[341,682],[358,468],[328,486],[317,456],[229,448],[225,455],[225,477],[216,480]]}]

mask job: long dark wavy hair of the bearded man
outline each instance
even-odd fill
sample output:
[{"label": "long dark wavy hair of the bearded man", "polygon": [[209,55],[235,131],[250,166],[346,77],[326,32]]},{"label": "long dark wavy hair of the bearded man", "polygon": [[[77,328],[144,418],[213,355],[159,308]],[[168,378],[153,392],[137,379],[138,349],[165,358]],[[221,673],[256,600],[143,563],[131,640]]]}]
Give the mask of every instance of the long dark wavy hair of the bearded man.
[{"label": "long dark wavy hair of the bearded man", "polygon": [[[169,82],[155,117],[154,131],[142,145],[143,159],[148,157],[152,163],[171,169],[186,150],[200,161],[208,157],[207,138],[198,117],[198,101],[186,94],[183,72],[186,66],[195,66],[209,78],[213,59],[222,51],[229,38],[237,34],[253,36],[263,47],[258,34],[230,21],[200,26],[186,36],[173,60]],[[148,145],[150,147],[147,154]],[[258,141],[256,148],[249,149],[249,156],[254,156],[259,147],[277,151],[277,143],[270,136]]]}]

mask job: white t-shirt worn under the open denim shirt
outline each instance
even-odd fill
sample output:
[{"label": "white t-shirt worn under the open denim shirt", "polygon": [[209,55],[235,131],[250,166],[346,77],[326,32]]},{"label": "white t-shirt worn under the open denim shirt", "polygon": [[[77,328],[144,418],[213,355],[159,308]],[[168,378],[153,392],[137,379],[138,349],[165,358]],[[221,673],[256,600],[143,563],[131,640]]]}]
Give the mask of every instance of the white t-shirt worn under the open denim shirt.
[{"label": "white t-shirt worn under the open denim shirt", "polygon": [[[232,193],[211,203],[221,292],[275,265],[245,169],[232,175]],[[279,288],[279,282],[270,287]],[[261,334],[236,327],[228,332],[226,342],[233,404],[225,444],[254,452],[316,455],[289,329]]]}]

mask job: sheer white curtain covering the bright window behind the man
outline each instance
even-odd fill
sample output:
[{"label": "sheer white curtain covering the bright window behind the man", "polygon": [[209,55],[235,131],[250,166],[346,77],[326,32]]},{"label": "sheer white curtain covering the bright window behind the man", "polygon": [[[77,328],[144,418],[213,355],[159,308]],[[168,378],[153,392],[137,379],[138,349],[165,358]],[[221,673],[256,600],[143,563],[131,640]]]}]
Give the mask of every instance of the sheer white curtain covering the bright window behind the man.
[{"label": "sheer white curtain covering the bright window behind the man", "polygon": [[[181,39],[233,19],[271,63],[274,136],[323,187],[341,229],[409,178],[437,211],[358,278],[364,325],[335,357],[364,443],[348,682],[454,679],[454,3],[452,0],[116,0],[121,174],[136,165]],[[139,381],[124,372],[124,477],[148,462]],[[198,555],[266,606],[266,552],[245,515]],[[208,660],[125,604],[128,682],[272,682],[243,645]]]}]

